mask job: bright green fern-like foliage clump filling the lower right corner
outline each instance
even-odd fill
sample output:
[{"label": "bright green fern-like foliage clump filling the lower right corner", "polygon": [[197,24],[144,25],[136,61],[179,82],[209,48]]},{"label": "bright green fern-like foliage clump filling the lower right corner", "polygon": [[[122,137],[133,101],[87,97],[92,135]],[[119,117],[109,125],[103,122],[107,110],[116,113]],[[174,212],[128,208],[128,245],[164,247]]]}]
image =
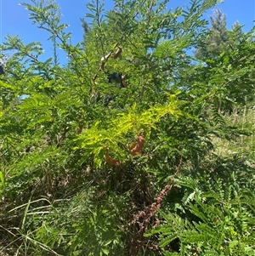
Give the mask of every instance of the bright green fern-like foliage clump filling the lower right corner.
[{"label": "bright green fern-like foliage clump filling the lower right corner", "polygon": [[[179,190],[185,188],[178,205],[180,211],[161,212],[166,224],[150,230],[146,236],[158,234],[161,247],[178,241],[183,255],[253,255],[254,175],[249,166],[244,173],[244,167],[239,169],[241,162],[232,161],[233,171],[225,163],[211,174],[200,171],[193,179],[176,179]],[[215,172],[221,174],[216,176]]]}]

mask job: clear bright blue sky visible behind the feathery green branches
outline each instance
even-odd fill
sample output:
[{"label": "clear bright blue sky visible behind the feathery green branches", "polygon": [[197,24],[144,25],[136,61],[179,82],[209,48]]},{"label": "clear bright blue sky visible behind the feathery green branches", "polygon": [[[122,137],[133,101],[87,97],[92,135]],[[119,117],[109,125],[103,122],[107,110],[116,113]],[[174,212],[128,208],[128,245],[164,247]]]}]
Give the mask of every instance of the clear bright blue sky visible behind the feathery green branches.
[{"label": "clear bright blue sky visible behind the feathery green branches", "polygon": [[[44,57],[52,56],[51,43],[47,41],[49,34],[46,31],[38,29],[37,26],[31,24],[28,19],[28,11],[24,6],[19,5],[20,2],[31,3],[29,0],[0,0],[0,43],[4,42],[4,37],[8,34],[11,36],[19,35],[24,43],[34,41],[41,42],[45,50]],[[86,14],[86,3],[84,0],[56,0],[62,13],[62,22],[70,25],[68,31],[72,32],[71,42],[76,44],[82,41],[82,26],[80,18]],[[169,8],[188,5],[189,0],[171,0],[168,3]],[[105,0],[105,9],[111,9],[112,1]],[[255,1],[254,0],[225,0],[224,3],[218,4],[215,9],[221,9],[227,17],[227,26],[230,28],[236,20],[241,25],[245,25],[244,31],[249,31],[255,20]],[[212,9],[208,10],[205,18],[212,15]],[[59,60],[65,62],[65,53],[59,50]]]}]

